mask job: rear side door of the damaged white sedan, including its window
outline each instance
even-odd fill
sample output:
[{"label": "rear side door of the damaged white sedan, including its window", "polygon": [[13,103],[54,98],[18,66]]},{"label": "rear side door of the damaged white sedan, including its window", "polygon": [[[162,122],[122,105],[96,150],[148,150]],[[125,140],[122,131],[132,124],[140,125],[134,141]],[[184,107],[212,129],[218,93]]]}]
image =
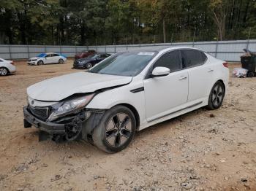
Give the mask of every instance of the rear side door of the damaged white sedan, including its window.
[{"label": "rear side door of the damaged white sedan, including its window", "polygon": [[214,65],[207,63],[207,56],[200,50],[181,50],[184,69],[189,73],[189,101],[208,96],[214,74]]}]

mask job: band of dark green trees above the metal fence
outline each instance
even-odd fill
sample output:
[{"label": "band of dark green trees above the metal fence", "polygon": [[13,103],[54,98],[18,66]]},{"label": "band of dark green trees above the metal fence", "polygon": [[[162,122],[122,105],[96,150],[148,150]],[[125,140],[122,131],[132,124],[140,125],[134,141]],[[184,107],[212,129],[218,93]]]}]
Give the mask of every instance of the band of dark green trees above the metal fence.
[{"label": "band of dark green trees above the metal fence", "polygon": [[255,0],[0,1],[1,44],[135,44],[256,38]]}]

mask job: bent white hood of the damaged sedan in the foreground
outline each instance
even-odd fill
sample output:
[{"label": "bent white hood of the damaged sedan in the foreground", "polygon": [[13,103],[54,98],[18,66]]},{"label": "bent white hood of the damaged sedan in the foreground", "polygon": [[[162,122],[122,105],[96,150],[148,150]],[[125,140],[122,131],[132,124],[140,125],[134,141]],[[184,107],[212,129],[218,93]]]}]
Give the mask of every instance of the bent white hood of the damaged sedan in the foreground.
[{"label": "bent white hood of the damaged sedan in the foreground", "polygon": [[38,82],[28,87],[27,93],[30,98],[39,101],[61,101],[75,93],[92,93],[131,81],[132,77],[78,72]]}]

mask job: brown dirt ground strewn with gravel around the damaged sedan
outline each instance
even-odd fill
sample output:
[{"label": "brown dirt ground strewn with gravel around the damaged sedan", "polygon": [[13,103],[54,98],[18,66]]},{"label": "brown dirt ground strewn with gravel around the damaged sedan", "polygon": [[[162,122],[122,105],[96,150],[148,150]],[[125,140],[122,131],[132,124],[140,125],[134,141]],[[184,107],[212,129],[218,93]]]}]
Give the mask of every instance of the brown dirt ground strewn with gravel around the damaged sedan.
[{"label": "brown dirt ground strewn with gravel around the damaged sedan", "polygon": [[0,77],[0,190],[256,190],[256,78],[230,78],[220,109],[154,125],[109,155],[23,128],[26,87],[76,72],[72,61],[16,66]]}]

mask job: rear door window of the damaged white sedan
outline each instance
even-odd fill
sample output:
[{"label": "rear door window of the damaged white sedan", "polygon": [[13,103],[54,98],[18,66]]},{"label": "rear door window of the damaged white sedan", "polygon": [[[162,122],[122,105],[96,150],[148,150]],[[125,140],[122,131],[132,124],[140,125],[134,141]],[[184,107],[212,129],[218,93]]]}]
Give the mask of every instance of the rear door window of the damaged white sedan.
[{"label": "rear door window of the damaged white sedan", "polygon": [[203,58],[200,51],[197,50],[181,50],[183,67],[193,67],[203,64]]}]

